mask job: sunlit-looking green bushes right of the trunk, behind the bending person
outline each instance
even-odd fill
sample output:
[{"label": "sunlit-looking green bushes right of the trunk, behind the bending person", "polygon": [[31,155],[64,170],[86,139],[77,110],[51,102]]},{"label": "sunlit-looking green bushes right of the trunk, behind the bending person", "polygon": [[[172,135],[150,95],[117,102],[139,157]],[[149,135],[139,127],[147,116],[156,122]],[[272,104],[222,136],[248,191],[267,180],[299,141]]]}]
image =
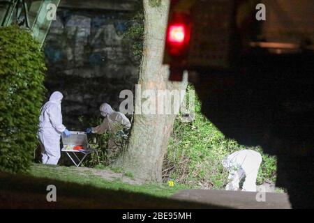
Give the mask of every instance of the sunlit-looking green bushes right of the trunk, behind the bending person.
[{"label": "sunlit-looking green bushes right of the trunk, behind the bending person", "polygon": [[[191,89],[188,86],[188,90]],[[199,100],[195,100],[195,120],[174,121],[174,130],[168,145],[164,166],[164,180],[176,180],[191,186],[222,189],[227,183],[227,171],[221,161],[226,155],[246,147],[232,139],[226,139],[213,123],[200,112]],[[257,184],[272,181],[276,177],[276,159],[262,153],[261,148],[250,148],[262,154],[263,162],[257,176]]]}]

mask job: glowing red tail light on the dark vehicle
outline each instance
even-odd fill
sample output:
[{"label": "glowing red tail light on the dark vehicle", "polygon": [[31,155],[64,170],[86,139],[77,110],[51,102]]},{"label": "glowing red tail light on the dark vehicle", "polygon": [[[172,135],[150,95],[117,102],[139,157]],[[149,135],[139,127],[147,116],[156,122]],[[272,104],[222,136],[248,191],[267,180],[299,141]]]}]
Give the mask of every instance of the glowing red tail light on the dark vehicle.
[{"label": "glowing red tail light on the dark vehicle", "polygon": [[184,56],[190,40],[190,20],[188,15],[174,13],[168,22],[166,49],[170,56]]}]

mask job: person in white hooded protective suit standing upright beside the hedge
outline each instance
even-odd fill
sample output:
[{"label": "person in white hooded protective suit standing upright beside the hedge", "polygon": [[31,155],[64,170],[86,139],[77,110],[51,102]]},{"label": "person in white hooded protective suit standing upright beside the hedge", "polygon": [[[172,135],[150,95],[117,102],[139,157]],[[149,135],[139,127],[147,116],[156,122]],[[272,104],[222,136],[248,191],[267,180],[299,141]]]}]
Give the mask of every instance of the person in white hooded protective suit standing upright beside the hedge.
[{"label": "person in white hooded protective suit standing upright beside the hedge", "polygon": [[62,93],[55,91],[48,102],[40,109],[38,138],[42,151],[43,164],[57,165],[60,158],[61,133],[70,136],[70,132],[62,124]]}]

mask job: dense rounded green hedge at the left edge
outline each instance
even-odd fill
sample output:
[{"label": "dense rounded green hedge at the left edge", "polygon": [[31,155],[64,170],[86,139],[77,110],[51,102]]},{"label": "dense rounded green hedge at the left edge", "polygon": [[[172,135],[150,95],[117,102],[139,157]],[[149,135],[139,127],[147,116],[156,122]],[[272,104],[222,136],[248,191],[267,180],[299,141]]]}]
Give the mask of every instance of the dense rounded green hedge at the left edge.
[{"label": "dense rounded green hedge at the left edge", "polygon": [[36,148],[46,70],[43,52],[28,31],[0,28],[0,169],[29,169]]}]

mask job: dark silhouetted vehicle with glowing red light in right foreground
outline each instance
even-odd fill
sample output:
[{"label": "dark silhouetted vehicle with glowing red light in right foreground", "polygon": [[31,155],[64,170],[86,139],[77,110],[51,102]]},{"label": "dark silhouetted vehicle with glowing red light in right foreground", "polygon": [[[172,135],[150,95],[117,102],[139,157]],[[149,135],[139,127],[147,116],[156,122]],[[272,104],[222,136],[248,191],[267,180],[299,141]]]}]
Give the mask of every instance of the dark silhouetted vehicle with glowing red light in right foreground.
[{"label": "dark silhouetted vehicle with glowing red light in right foreground", "polygon": [[277,156],[293,208],[314,208],[313,25],[311,0],[174,0],[167,26],[170,79],[188,70],[226,137]]}]

